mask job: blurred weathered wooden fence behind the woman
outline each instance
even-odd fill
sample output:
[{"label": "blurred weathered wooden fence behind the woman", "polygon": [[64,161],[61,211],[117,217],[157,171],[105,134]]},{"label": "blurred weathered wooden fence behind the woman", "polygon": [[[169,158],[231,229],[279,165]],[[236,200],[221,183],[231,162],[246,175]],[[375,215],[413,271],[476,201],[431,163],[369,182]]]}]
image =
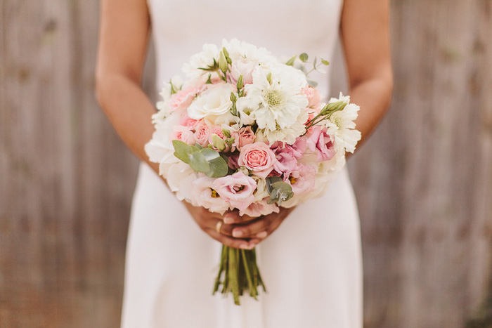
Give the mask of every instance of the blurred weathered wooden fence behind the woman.
[{"label": "blurred weathered wooden fence behind the woman", "polygon": [[[94,98],[98,1],[1,0],[0,29],[0,327],[118,327],[138,161]],[[492,327],[492,1],[392,0],[391,47],[349,161],[365,327]]]}]

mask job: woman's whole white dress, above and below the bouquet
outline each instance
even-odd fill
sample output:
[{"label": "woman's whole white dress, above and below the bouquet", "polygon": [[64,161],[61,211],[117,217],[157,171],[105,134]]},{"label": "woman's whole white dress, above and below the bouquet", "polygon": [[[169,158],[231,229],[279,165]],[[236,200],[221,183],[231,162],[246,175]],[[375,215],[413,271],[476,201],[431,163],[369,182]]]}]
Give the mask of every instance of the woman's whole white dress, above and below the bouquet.
[{"label": "woman's whole white dress, above and below the bouquet", "polygon": [[[148,0],[157,84],[205,43],[234,37],[278,57],[330,60],[342,0]],[[332,65],[339,65],[332,63]],[[328,93],[328,77],[318,88]],[[150,119],[150,118],[149,118]],[[362,327],[358,211],[344,169],[321,198],[297,206],[259,244],[268,293],[241,306],[212,296],[221,245],[141,164],[131,211],[122,327]]]}]

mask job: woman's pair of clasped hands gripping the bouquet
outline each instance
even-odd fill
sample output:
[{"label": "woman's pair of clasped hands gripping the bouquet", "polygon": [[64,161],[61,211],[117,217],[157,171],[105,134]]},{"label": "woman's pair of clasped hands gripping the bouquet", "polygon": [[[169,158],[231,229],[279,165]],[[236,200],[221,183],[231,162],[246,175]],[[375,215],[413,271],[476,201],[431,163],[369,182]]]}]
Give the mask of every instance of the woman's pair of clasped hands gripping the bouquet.
[{"label": "woman's pair of clasped hands gripping the bouquet", "polygon": [[240,216],[238,211],[228,211],[221,216],[201,206],[193,206],[184,201],[183,204],[207,235],[226,246],[239,249],[255,247],[271,235],[293,209],[281,207],[279,213],[252,218],[246,215]]}]

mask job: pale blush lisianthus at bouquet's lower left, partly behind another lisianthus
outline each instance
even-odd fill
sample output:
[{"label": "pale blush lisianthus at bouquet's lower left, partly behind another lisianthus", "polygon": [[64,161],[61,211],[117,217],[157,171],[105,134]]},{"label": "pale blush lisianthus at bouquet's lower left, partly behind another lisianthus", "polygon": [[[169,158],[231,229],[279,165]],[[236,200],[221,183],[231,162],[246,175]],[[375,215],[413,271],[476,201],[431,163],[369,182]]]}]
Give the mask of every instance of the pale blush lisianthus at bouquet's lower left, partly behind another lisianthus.
[{"label": "pale blush lisianthus at bouquet's lower left, partly behind another lisianthus", "polygon": [[193,204],[203,206],[212,212],[224,214],[229,209],[229,204],[219,196],[218,192],[212,189],[212,183],[214,181],[215,179],[209,178],[208,176],[202,176],[196,179],[191,183],[190,197]]}]

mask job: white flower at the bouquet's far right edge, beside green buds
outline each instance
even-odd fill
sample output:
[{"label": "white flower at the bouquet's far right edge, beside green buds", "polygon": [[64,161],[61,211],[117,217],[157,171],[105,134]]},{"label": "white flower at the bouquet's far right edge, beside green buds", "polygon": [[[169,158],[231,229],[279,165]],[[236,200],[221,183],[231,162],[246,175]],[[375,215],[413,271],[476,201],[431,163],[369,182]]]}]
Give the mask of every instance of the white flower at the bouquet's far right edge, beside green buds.
[{"label": "white flower at the bouquet's far right edge, beside green buds", "polygon": [[358,140],[361,140],[361,131],[356,130],[355,119],[358,116],[360,107],[350,103],[349,96],[343,96],[340,93],[339,99],[332,98],[330,103],[338,100],[344,100],[347,105],[343,110],[334,112],[330,117],[330,133],[335,135],[335,143],[344,147],[347,152],[354,152]]}]

